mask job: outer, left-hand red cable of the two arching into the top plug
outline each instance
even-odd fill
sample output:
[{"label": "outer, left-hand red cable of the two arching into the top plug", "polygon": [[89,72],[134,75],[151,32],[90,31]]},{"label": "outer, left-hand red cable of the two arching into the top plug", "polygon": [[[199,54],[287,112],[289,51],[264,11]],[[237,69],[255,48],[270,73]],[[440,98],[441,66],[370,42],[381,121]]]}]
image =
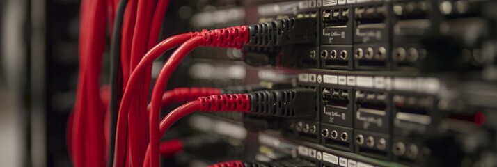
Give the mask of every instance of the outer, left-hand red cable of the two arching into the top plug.
[{"label": "outer, left-hand red cable of the two arching into the top plug", "polygon": [[120,109],[118,113],[118,125],[116,127],[116,148],[114,151],[114,166],[121,167],[124,163],[125,157],[125,148],[126,148],[126,125],[127,125],[127,116],[129,110],[131,109],[130,103],[132,102],[132,97],[134,97],[136,93],[136,87],[138,85],[138,81],[141,79],[143,72],[145,72],[146,67],[150,65],[155,58],[161,56],[162,53],[171,49],[177,45],[180,45],[184,41],[191,38],[192,34],[181,34],[175,35],[173,37],[167,38],[163,40],[155,47],[150,49],[147,54],[142,58],[139,65],[136,66],[136,69],[129,77],[128,84],[125,88],[125,92],[123,93],[123,99],[120,104]]}]

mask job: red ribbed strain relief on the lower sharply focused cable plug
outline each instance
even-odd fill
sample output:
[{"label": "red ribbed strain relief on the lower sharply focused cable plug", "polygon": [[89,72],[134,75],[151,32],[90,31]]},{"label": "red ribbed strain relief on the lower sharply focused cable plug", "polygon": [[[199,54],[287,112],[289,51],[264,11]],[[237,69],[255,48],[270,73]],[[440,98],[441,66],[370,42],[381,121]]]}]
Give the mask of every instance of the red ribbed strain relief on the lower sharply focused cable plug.
[{"label": "red ribbed strain relief on the lower sharply focused cable plug", "polygon": [[250,99],[246,94],[211,95],[198,97],[200,111],[250,111]]}]

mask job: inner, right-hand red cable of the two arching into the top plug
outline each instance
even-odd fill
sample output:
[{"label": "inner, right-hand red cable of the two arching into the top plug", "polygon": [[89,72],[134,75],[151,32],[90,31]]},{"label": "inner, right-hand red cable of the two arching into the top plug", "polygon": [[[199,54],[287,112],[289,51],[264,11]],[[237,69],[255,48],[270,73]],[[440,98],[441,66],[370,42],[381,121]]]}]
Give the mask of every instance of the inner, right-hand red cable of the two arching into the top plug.
[{"label": "inner, right-hand red cable of the two arching into the top plug", "polygon": [[171,55],[171,57],[166,61],[164,66],[162,67],[161,72],[157,76],[157,81],[155,81],[154,89],[152,90],[152,100],[150,102],[151,105],[151,114],[149,119],[149,128],[150,128],[150,146],[151,153],[153,156],[150,157],[150,165],[151,166],[159,166],[159,116],[157,113],[160,111],[161,104],[161,95],[162,90],[166,88],[169,77],[173,74],[180,62],[191,50],[203,44],[203,38],[200,36],[191,38],[187,42],[184,42],[183,45],[178,47],[175,52]]}]

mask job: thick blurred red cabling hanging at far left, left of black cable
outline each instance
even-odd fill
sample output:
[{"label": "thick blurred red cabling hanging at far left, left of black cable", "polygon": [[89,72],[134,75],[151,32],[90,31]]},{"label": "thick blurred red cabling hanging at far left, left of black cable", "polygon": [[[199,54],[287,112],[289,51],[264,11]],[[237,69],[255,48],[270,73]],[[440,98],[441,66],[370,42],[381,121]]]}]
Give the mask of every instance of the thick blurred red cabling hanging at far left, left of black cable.
[{"label": "thick blurred red cabling hanging at far left, left of black cable", "polygon": [[[100,63],[106,33],[106,1],[82,1],[79,34],[79,80],[74,109],[74,166],[104,165],[104,111],[98,94]],[[90,135],[91,133],[91,135]]]}]

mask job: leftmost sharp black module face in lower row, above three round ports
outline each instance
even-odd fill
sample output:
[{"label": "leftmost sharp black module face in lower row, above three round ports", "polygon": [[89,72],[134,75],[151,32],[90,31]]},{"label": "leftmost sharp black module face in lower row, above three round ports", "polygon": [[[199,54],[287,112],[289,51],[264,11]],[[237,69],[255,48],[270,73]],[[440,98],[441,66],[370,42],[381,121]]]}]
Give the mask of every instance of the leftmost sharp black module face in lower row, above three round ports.
[{"label": "leftmost sharp black module face in lower row, above three round ports", "polygon": [[353,127],[354,92],[345,86],[322,86],[321,121],[331,125]]}]

